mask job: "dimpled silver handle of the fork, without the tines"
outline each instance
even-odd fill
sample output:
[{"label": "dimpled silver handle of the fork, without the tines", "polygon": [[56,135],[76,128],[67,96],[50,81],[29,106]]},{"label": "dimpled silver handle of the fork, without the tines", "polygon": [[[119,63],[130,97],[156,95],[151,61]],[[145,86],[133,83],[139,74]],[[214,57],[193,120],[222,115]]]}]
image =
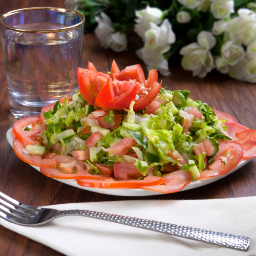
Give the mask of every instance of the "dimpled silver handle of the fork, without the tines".
[{"label": "dimpled silver handle of the fork, without the tines", "polygon": [[235,236],[233,234],[215,232],[200,228],[193,228],[187,226],[181,226],[171,223],[165,223],[160,221],[151,221],[145,219],[138,219],[128,216],[106,214],[99,211],[91,210],[62,210],[57,212],[53,218],[58,218],[63,215],[72,216],[84,216],[94,219],[100,219],[115,223],[120,223],[127,226],[133,226],[152,230],[160,233],[170,234],[176,237],[187,238],[204,242],[208,244],[215,244],[231,249],[247,251],[250,245],[250,239],[247,237]]}]

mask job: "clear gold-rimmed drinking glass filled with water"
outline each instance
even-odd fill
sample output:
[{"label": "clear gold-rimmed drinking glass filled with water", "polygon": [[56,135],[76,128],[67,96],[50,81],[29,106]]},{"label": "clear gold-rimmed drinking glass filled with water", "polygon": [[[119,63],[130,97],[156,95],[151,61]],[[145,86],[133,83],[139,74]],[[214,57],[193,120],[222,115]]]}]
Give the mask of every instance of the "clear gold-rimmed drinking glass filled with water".
[{"label": "clear gold-rimmed drinking glass filled with water", "polygon": [[10,111],[16,119],[78,90],[84,16],[62,8],[27,8],[0,18]]}]

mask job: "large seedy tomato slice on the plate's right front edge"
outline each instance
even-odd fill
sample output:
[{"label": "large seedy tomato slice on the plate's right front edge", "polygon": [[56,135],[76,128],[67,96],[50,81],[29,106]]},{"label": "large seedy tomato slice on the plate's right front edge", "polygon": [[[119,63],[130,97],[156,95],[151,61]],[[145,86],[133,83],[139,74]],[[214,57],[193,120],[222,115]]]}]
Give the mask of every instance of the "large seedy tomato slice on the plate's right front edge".
[{"label": "large seedy tomato slice on the plate's right front edge", "polygon": [[235,141],[221,140],[219,151],[214,156],[215,162],[209,164],[209,169],[203,170],[198,179],[227,174],[236,167],[243,158],[244,148]]}]

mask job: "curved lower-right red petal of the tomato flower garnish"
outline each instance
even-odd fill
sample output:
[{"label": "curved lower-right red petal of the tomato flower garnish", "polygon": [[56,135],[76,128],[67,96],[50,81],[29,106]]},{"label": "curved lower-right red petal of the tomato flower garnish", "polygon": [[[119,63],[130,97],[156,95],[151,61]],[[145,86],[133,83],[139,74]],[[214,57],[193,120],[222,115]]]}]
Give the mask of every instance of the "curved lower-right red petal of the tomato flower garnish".
[{"label": "curved lower-right red petal of the tomato flower garnish", "polygon": [[161,89],[161,84],[155,81],[151,90],[148,92],[146,96],[135,100],[136,104],[134,104],[133,110],[142,110],[146,108],[151,102],[153,102]]}]

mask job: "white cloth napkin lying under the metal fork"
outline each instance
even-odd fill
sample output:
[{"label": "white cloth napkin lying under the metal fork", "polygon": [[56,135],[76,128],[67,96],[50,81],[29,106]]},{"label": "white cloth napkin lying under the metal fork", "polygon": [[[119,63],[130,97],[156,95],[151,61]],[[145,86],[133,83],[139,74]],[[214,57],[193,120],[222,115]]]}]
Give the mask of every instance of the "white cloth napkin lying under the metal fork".
[{"label": "white cloth napkin lying under the metal fork", "polygon": [[87,209],[169,222],[249,237],[247,252],[84,217],[61,217],[24,227],[0,224],[66,255],[241,255],[256,254],[256,197],[215,200],[136,200],[51,205],[59,210]]}]

